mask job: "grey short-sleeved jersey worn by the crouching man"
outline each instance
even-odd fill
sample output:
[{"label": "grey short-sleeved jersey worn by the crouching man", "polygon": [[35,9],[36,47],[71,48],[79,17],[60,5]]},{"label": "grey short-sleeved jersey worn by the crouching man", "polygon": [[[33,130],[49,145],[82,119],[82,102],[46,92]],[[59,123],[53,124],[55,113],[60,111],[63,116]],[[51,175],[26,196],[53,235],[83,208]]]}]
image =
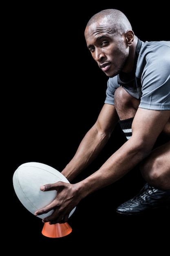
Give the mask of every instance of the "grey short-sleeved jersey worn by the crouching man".
[{"label": "grey short-sleeved jersey worn by the crouching man", "polygon": [[115,90],[123,88],[136,99],[140,108],[170,110],[170,41],[141,43],[134,77],[128,82],[119,75],[109,78],[105,103],[114,105]]}]

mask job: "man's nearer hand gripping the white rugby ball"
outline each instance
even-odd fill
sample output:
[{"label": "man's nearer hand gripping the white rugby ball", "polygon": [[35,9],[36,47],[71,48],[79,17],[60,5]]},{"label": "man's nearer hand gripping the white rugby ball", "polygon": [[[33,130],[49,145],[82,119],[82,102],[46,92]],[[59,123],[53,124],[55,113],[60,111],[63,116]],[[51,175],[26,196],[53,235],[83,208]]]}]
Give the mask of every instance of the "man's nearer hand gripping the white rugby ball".
[{"label": "man's nearer hand gripping the white rugby ball", "polygon": [[40,189],[44,191],[44,193],[45,191],[56,190],[57,196],[46,207],[35,211],[35,216],[54,210],[50,216],[43,218],[42,222],[49,222],[49,224],[67,222],[69,214],[80,201],[77,196],[76,187],[76,184],[70,184],[62,181],[41,186]]}]

